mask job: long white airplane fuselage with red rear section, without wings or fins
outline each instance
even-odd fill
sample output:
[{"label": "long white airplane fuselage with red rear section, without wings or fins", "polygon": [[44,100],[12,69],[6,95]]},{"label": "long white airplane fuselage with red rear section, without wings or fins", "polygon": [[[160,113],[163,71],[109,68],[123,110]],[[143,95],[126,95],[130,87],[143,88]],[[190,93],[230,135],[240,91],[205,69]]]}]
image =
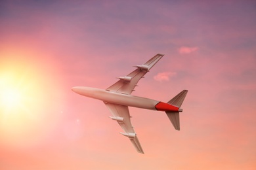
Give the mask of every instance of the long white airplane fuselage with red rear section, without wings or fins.
[{"label": "long white airplane fuselage with red rear section, without wings or fins", "polygon": [[[161,111],[179,110],[179,107],[175,107],[167,103],[156,101],[154,99],[148,99],[145,97],[138,97],[135,95],[128,95],[124,93],[109,92],[107,90],[102,90],[98,88],[74,87],[72,88],[72,90],[75,93],[78,93],[80,95],[98,99],[106,103],[114,103],[117,105],[125,105],[129,107],[137,107],[141,109],[150,109],[150,110],[161,110]],[[158,105],[160,103],[161,105]]]}]

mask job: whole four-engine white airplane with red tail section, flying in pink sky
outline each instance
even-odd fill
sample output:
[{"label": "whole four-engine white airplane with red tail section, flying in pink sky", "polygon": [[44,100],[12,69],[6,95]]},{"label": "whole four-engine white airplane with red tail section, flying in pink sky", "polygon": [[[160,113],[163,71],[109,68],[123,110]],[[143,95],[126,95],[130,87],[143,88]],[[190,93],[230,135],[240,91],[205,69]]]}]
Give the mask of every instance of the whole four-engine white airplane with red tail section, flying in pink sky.
[{"label": "whole four-engine white airplane with red tail section, flying in pink sky", "polygon": [[124,132],[120,133],[129,137],[131,143],[133,143],[133,146],[137,149],[137,152],[141,154],[144,154],[144,151],[139,143],[137,133],[135,133],[131,124],[131,116],[128,107],[164,111],[175,129],[180,130],[179,112],[182,112],[181,105],[188,90],[183,90],[167,103],[131,95],[140,78],[143,78],[163,56],[163,54],[157,54],[146,61],[146,63],[135,66],[137,67],[135,71],[129,73],[127,76],[118,77],[119,80],[106,90],[82,86],[72,88],[72,91],[79,95],[103,101],[112,113],[112,116],[109,117],[112,118],[112,120],[116,120],[123,129]]}]

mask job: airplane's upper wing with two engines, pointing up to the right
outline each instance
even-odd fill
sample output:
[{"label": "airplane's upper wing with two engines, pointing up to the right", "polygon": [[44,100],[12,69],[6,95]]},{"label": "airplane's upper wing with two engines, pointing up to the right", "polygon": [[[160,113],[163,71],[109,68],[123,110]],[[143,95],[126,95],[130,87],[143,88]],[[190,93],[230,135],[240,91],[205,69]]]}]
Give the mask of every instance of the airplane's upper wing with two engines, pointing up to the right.
[{"label": "airplane's upper wing with two engines, pointing up to the right", "polygon": [[137,86],[140,78],[142,78],[150,69],[163,57],[163,54],[156,54],[153,58],[146,61],[142,65],[137,65],[137,69],[131,72],[127,76],[120,76],[115,84],[107,88],[106,90],[117,93],[131,94],[134,88]]}]

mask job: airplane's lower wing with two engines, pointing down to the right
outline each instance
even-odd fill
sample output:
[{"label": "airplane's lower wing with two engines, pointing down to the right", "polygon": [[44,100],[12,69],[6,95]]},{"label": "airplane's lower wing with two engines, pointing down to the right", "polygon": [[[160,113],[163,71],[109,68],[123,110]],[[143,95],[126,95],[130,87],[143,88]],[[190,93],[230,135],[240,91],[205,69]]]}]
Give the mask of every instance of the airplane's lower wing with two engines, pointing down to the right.
[{"label": "airplane's lower wing with two engines, pointing down to the right", "polygon": [[129,137],[131,143],[133,143],[133,146],[135,146],[137,151],[139,153],[144,154],[142,147],[140,146],[139,139],[135,133],[135,130],[131,125],[131,116],[129,114],[128,107],[123,105],[116,105],[113,103],[104,103],[112,113],[112,116],[110,116],[110,118],[116,120],[117,123],[122,127],[123,131],[125,131],[124,133],[121,134]]}]

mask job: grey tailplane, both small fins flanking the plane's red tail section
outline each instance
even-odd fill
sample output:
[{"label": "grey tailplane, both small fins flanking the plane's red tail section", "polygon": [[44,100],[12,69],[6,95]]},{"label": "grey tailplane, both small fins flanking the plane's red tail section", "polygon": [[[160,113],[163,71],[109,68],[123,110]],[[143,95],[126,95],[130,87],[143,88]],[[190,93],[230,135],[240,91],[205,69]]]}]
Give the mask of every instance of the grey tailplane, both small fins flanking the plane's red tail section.
[{"label": "grey tailplane, both small fins flanking the plane's red tail section", "polygon": [[[173,99],[168,101],[168,103],[180,108],[186,97],[186,93],[188,93],[188,90],[183,90],[181,93],[173,97]],[[171,120],[171,123],[177,130],[180,130],[180,112],[182,112],[182,109],[179,109],[179,112],[166,112],[169,120]]]}]

